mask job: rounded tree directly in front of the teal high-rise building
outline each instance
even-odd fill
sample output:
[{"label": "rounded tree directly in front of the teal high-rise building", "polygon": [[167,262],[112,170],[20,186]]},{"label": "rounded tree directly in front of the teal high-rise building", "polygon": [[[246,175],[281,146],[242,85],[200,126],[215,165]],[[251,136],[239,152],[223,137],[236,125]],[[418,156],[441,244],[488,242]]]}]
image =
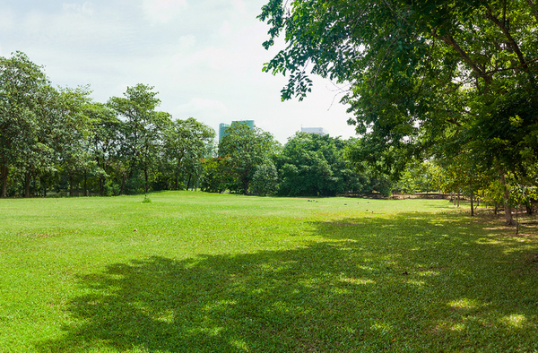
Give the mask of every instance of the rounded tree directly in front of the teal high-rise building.
[{"label": "rounded tree directly in front of the teal high-rise building", "polygon": [[234,123],[226,129],[227,135],[219,143],[219,156],[225,158],[233,182],[228,185],[230,191],[248,194],[256,166],[273,153],[277,142],[273,135],[246,124]]}]

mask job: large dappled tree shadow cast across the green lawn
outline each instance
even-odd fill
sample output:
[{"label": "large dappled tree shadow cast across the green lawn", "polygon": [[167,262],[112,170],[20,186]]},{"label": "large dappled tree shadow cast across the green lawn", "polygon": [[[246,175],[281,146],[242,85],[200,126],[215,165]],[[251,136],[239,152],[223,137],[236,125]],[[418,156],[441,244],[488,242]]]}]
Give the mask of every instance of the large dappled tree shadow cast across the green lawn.
[{"label": "large dappled tree shadow cast across the green lawn", "polygon": [[[42,352],[538,349],[533,241],[431,214],[315,223],[286,251],[152,257],[81,279]],[[253,235],[255,237],[255,235]]]}]

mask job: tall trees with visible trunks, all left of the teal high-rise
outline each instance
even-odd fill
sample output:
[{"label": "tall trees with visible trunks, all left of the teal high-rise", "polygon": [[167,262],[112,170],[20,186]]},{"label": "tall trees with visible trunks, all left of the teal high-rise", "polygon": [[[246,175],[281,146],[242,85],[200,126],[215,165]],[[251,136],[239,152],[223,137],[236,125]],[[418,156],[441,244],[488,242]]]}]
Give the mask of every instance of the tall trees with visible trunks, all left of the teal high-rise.
[{"label": "tall trees with visible trunks, all left of the teal high-rise", "polygon": [[54,88],[21,52],[0,58],[1,196],[137,194],[178,189],[202,175],[215,133],[157,111],[143,84],[93,102],[88,87]]}]

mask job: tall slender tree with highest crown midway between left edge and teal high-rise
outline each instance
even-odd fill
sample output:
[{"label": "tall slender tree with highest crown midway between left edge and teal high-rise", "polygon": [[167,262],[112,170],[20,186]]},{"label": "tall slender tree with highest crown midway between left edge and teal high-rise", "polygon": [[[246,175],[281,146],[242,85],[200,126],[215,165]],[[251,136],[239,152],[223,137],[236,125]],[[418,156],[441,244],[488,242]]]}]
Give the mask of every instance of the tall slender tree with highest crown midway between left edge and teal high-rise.
[{"label": "tall slender tree with highest crown midway between left edge and teal high-rise", "polygon": [[128,177],[135,172],[143,172],[144,193],[150,185],[150,174],[157,167],[161,153],[162,133],[171,124],[168,113],[157,112],[161,100],[153,87],[137,84],[127,87],[125,98],[112,97],[108,106],[119,116],[126,118],[125,146],[127,156]]}]

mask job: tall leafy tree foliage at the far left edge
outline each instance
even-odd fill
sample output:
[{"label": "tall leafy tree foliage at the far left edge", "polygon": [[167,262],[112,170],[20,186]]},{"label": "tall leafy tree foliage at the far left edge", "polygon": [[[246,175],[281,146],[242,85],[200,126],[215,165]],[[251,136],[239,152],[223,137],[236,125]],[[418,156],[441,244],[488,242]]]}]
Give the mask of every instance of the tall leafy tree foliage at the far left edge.
[{"label": "tall leafy tree foliage at the far left edge", "polygon": [[[83,114],[90,91],[54,89],[42,68],[21,52],[0,58],[0,171],[6,195],[11,169],[30,182],[59,169],[89,168],[89,121]],[[45,184],[45,190],[47,182]]]}]

